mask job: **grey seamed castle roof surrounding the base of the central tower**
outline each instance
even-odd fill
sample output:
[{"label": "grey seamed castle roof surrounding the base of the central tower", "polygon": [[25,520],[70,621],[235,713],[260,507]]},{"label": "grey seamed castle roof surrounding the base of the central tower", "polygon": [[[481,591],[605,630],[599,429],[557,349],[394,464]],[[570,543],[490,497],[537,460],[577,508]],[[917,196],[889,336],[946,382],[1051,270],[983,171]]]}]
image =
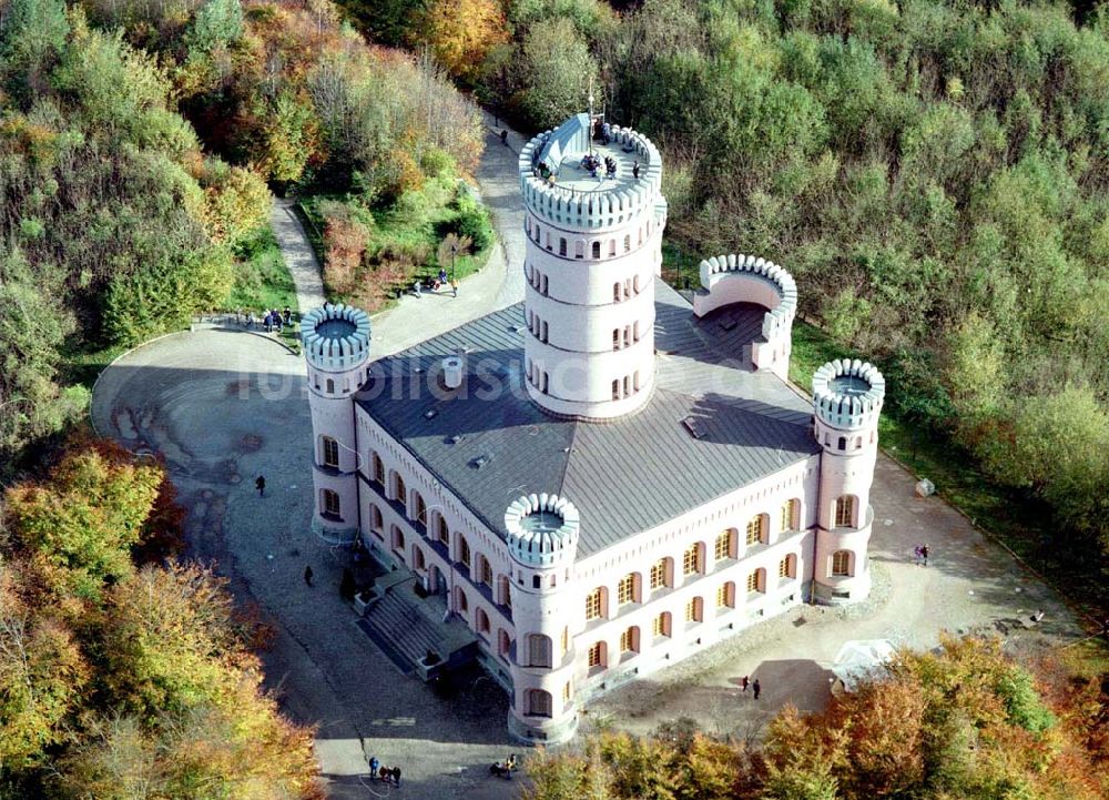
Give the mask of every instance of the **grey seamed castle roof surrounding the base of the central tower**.
[{"label": "grey seamed castle roof surrounding the base of the central tower", "polygon": [[[763,313],[739,304],[698,320],[657,281],[655,394],[613,422],[556,419],[528,399],[522,304],[375,362],[356,399],[491,530],[503,535],[521,494],[568,498],[584,557],[820,452],[811,405],[751,367]],[[459,350],[466,377],[448,392],[439,364]]]}]

